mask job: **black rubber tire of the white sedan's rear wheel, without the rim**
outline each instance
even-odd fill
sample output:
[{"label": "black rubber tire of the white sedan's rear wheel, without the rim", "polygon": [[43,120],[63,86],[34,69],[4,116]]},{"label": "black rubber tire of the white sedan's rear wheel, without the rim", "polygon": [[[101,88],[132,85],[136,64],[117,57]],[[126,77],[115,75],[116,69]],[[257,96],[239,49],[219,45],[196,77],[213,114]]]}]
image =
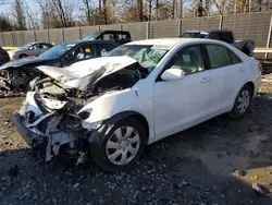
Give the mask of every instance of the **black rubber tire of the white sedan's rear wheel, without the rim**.
[{"label": "black rubber tire of the white sedan's rear wheel, without the rim", "polygon": [[[240,105],[239,97],[242,97],[242,95],[245,92],[248,93],[248,95],[249,95],[249,99],[248,99],[249,101],[248,101],[248,105],[246,106],[246,108],[240,109],[239,108],[239,105]],[[242,87],[239,94],[237,95],[237,97],[235,99],[235,104],[233,106],[233,110],[230,112],[230,116],[232,118],[240,118],[240,117],[244,116],[244,113],[247,111],[247,109],[248,109],[248,107],[249,107],[249,105],[251,102],[252,94],[254,94],[254,91],[252,91],[252,88],[249,85],[244,85],[244,87]]]}]

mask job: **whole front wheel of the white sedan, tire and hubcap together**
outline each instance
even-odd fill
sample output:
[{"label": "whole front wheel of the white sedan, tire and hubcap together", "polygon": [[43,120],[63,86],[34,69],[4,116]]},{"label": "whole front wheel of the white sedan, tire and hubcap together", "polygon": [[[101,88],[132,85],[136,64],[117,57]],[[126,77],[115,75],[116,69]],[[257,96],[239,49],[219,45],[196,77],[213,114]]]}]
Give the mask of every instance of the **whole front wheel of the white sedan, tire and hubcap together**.
[{"label": "whole front wheel of the white sedan, tire and hubcap together", "polygon": [[91,148],[94,161],[103,170],[118,171],[132,167],[144,154],[145,128],[134,118],[116,122],[101,145]]}]

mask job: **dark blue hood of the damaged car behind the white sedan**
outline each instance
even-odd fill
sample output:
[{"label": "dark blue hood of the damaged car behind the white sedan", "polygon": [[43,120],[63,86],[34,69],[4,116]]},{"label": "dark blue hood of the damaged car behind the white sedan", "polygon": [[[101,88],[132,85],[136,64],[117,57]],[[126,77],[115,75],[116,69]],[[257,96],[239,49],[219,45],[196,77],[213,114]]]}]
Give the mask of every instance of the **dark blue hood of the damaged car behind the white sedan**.
[{"label": "dark blue hood of the damaged car behind the white sedan", "polygon": [[16,68],[16,67],[25,67],[25,65],[36,64],[36,63],[44,63],[50,60],[41,59],[38,57],[23,58],[23,59],[13,60],[3,64],[2,67],[0,67],[0,70],[9,69],[9,68]]}]

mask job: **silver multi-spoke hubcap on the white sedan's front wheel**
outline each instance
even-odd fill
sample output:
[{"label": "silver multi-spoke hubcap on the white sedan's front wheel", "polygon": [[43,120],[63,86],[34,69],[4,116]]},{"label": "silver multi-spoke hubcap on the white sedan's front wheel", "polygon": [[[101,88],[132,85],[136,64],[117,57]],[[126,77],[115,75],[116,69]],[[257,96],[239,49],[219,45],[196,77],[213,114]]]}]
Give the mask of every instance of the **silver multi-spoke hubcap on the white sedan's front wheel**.
[{"label": "silver multi-spoke hubcap on the white sedan's front wheel", "polygon": [[106,144],[106,155],[114,165],[128,164],[138,153],[139,133],[132,126],[116,129]]}]

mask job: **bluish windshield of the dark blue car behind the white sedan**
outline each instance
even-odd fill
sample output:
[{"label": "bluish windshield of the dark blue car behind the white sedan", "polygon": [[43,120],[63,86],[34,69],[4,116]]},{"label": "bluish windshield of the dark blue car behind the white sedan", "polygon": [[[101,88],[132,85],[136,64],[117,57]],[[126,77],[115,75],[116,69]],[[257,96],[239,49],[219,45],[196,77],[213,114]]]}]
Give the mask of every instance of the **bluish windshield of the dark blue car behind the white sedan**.
[{"label": "bluish windshield of the dark blue car behind the white sedan", "polygon": [[66,51],[69,51],[71,48],[73,48],[75,44],[60,44],[57,45],[46,52],[42,52],[39,58],[41,59],[58,59],[62,55],[64,55]]}]

